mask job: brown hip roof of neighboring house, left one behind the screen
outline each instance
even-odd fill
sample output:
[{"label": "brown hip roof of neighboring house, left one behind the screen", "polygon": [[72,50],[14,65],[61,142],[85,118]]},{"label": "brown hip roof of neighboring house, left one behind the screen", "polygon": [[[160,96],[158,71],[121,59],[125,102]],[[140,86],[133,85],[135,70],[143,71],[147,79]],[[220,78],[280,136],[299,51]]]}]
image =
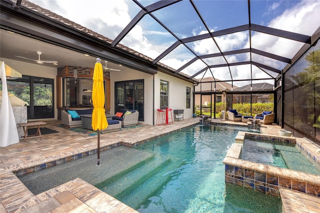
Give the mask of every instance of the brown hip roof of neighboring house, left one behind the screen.
[{"label": "brown hip roof of neighboring house, left one behind the screen", "polygon": [[[198,81],[201,80],[201,83],[197,84],[194,88],[194,91],[214,91],[214,81],[220,81],[219,79],[214,79],[213,77],[203,77],[202,79],[197,79]],[[215,90],[231,90],[232,85],[230,83],[221,81],[215,82]],[[233,85],[234,88],[237,86]]]}]

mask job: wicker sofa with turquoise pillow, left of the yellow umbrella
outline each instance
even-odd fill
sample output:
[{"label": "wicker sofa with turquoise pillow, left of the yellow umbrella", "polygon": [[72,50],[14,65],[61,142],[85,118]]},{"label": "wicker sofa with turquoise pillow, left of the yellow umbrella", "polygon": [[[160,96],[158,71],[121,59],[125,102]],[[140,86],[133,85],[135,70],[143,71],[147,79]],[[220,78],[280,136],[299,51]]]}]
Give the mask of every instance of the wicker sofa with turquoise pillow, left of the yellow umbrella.
[{"label": "wicker sofa with turquoise pillow, left of the yellow umbrella", "polygon": [[77,114],[92,114],[92,108],[87,109],[71,109],[71,108],[65,108],[64,110],[61,110],[61,121],[63,125],[72,127],[78,127],[81,126],[81,117],[78,116],[71,116],[71,111],[75,111]]}]

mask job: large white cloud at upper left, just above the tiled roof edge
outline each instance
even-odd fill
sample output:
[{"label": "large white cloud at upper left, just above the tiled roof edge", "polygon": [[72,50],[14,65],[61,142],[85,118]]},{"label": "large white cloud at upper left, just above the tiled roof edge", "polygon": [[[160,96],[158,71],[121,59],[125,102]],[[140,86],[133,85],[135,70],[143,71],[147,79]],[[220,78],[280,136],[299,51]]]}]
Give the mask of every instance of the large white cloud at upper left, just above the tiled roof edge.
[{"label": "large white cloud at upper left, just above the tiled roof edge", "polygon": [[126,0],[30,1],[111,39],[131,20]]}]

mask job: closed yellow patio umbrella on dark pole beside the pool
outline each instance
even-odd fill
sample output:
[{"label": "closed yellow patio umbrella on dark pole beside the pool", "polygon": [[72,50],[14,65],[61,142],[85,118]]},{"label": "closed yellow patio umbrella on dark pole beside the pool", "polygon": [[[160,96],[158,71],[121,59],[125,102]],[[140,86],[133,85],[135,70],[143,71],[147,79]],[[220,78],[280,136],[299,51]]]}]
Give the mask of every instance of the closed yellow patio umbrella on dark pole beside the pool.
[{"label": "closed yellow patio umbrella on dark pole beside the pool", "polygon": [[96,58],[93,70],[93,86],[92,86],[92,129],[97,130],[97,165],[100,165],[100,129],[105,129],[108,126],[105,110],[104,110],[104,88],[103,88],[103,69],[100,63],[101,59]]}]

